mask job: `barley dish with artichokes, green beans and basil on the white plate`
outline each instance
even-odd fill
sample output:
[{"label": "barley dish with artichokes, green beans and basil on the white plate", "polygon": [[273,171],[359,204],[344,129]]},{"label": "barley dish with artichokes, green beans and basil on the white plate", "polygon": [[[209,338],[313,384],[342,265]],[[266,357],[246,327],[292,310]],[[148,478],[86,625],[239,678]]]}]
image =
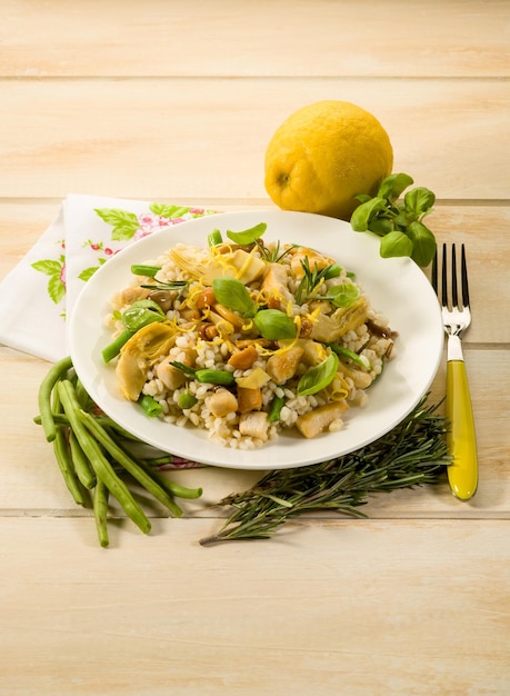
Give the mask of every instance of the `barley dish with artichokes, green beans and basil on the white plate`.
[{"label": "barley dish with artichokes, green beans and basil on the white plate", "polygon": [[340,430],[394,355],[397,334],[349,269],[264,231],[213,230],[133,266],[106,319],[121,395],[224,447]]}]

